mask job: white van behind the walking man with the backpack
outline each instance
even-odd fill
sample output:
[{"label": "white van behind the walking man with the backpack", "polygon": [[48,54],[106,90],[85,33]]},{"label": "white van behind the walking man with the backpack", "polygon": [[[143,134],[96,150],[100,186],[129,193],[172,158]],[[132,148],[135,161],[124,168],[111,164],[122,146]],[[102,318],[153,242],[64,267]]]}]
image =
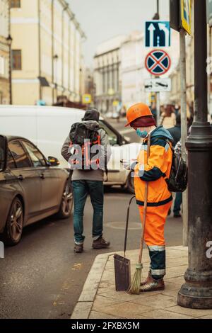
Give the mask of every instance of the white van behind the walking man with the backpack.
[{"label": "white van behind the walking man with the backpack", "polygon": [[[20,135],[32,141],[46,157],[57,157],[60,167],[68,168],[61,156],[61,146],[69,135],[71,125],[80,122],[85,111],[55,106],[0,106],[0,134]],[[139,144],[128,144],[126,138],[105,119],[100,118],[112,145],[108,164],[107,186],[120,185],[134,192],[134,179],[123,169],[120,159],[136,158]]]}]

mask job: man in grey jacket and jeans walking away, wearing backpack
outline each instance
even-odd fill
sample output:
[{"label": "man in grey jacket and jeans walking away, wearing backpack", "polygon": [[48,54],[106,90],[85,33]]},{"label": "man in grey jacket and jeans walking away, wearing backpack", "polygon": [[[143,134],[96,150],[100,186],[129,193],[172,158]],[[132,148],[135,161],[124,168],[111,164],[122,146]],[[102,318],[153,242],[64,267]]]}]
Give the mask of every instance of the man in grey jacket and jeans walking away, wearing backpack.
[{"label": "man in grey jacket and jeans walking away, wearing backpack", "polygon": [[74,251],[83,252],[83,211],[88,194],[93,205],[93,249],[110,246],[102,237],[104,169],[112,154],[105,130],[98,123],[100,113],[91,108],[86,111],[82,123],[73,124],[61,154],[69,162],[72,174],[74,200],[73,229]]}]

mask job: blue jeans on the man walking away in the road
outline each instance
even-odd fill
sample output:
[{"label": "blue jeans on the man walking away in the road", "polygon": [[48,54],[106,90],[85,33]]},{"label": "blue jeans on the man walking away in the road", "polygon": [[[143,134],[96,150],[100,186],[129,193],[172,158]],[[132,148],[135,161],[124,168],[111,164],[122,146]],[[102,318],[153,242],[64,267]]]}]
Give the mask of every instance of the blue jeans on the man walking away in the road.
[{"label": "blue jeans on the man walking away in the road", "polygon": [[103,182],[73,181],[72,186],[74,199],[74,240],[77,244],[82,244],[85,239],[85,236],[83,236],[83,214],[88,194],[90,194],[90,201],[93,205],[93,237],[102,236],[104,203]]}]

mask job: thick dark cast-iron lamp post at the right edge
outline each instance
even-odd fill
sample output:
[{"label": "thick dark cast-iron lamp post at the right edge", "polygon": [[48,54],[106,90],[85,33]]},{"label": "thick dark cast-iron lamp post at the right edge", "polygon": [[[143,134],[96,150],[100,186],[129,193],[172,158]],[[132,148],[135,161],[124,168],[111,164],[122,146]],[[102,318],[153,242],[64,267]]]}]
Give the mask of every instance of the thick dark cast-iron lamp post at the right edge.
[{"label": "thick dark cast-iron lamp post at the right edge", "polygon": [[206,1],[194,1],[195,107],[186,142],[189,164],[189,266],[178,305],[212,308],[212,128],[207,122]]}]

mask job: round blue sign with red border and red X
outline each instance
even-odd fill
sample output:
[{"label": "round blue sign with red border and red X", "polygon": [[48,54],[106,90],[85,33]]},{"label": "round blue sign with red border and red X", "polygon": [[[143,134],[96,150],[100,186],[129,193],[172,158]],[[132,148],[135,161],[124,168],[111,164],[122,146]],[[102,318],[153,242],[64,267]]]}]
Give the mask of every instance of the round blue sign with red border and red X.
[{"label": "round blue sign with red border and red X", "polygon": [[170,56],[164,50],[152,50],[146,56],[145,66],[148,72],[159,77],[170,69]]}]

